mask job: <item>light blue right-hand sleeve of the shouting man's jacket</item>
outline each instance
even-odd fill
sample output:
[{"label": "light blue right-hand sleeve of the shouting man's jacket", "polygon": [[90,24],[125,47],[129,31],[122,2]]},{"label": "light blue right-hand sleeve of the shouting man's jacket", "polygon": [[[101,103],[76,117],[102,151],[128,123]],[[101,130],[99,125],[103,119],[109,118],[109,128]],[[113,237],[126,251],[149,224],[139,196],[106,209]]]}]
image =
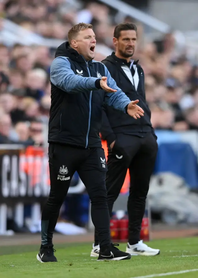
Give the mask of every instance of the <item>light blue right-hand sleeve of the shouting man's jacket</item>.
[{"label": "light blue right-hand sleeve of the shouting man's jacket", "polygon": [[116,85],[115,80],[111,77],[110,72],[108,71],[107,67],[105,67],[105,76],[107,77],[107,85],[117,90],[115,93],[105,93],[105,102],[109,106],[114,106],[117,109],[123,110],[125,113],[125,107],[131,102],[128,96],[125,95],[125,93],[118,88]]}]

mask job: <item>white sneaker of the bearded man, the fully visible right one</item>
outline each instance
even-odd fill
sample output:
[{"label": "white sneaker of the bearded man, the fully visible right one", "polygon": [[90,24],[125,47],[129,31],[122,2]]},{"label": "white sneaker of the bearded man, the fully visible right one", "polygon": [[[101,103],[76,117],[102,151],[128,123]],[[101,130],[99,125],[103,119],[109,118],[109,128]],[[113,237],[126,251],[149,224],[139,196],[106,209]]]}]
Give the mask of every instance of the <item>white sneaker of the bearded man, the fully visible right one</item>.
[{"label": "white sneaker of the bearded man, the fully visible right one", "polygon": [[160,254],[159,249],[153,249],[143,243],[143,240],[140,240],[137,244],[130,245],[127,243],[126,252],[131,255],[142,255],[142,256],[155,256]]}]

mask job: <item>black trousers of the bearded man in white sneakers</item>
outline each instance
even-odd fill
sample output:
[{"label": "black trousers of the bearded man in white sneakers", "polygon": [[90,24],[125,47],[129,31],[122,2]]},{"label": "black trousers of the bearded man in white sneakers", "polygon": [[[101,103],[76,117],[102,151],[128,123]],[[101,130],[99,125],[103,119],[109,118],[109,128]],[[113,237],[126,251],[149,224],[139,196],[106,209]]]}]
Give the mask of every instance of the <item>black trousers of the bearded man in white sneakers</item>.
[{"label": "black trousers of the bearded man in white sneakers", "polygon": [[[143,138],[128,134],[118,134],[113,150],[109,149],[108,152],[106,188],[110,217],[112,216],[114,202],[123,186],[127,169],[129,169],[130,173],[127,203],[129,244],[136,244],[140,240],[141,223],[157,150],[156,138],[152,132],[147,132]],[[96,230],[95,242],[98,241]]]}]

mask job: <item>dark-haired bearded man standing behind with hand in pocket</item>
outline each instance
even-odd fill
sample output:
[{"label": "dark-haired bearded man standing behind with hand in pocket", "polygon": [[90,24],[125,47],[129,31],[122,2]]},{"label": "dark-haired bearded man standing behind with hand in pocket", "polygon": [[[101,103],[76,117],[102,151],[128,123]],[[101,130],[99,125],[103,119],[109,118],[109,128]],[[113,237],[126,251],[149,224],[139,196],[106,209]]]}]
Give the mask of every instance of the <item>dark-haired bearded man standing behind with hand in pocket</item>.
[{"label": "dark-haired bearded man standing behind with hand in pocket", "polygon": [[[110,217],[115,200],[123,186],[127,169],[130,173],[128,197],[129,239],[126,251],[132,255],[157,255],[159,249],[152,249],[140,240],[141,223],[144,216],[149,181],[157,155],[157,137],[151,124],[151,112],[146,103],[144,71],[138,61],[132,60],[137,40],[137,27],[122,23],[115,27],[114,46],[116,52],[102,63],[109,70],[117,86],[130,98],[139,99],[144,117],[133,119],[114,107],[105,105],[101,135],[108,144],[108,172],[106,188]],[[100,247],[97,231],[91,256],[98,256]]]}]

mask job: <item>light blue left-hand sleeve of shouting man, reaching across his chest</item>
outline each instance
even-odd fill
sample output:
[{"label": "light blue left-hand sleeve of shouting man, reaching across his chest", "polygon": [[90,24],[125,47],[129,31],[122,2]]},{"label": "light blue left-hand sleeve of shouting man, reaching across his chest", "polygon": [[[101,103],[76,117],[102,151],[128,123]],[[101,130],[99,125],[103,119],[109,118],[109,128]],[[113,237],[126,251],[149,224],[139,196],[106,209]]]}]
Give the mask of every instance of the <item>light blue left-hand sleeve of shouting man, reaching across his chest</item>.
[{"label": "light blue left-hand sleeve of shouting man, reaching across his chest", "polygon": [[55,58],[50,67],[50,81],[67,93],[98,90],[95,86],[97,79],[95,77],[76,75],[66,57],[60,56]]}]

